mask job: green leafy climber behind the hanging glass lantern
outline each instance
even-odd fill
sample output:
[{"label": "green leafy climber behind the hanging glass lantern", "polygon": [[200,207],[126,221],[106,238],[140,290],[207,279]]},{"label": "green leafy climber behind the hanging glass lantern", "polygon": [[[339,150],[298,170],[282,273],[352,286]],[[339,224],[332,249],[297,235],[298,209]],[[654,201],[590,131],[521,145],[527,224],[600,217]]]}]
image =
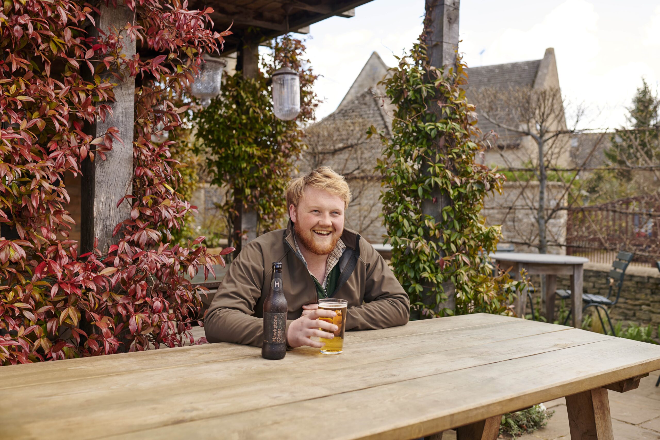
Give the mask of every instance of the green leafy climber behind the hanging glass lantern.
[{"label": "green leafy climber behind the hanging glass lantern", "polygon": [[[251,206],[257,211],[260,232],[280,226],[292,158],[304,147],[302,127],[314,120],[319,102],[313,91],[317,75],[305,59],[302,40],[275,40],[273,53],[261,57],[256,78],[245,79],[240,72],[228,77],[222,94],[195,115],[212,183],[228,187],[220,208],[231,212],[236,203]],[[273,113],[269,78],[284,65],[300,75],[301,111],[294,121],[281,121]]]}]

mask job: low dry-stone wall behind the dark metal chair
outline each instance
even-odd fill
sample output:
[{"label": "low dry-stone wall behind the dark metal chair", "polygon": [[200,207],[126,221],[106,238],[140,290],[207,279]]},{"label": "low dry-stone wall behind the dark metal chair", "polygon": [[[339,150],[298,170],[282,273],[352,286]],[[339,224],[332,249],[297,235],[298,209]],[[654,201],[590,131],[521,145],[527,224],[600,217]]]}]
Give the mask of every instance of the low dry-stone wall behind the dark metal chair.
[{"label": "low dry-stone wall behind the dark metal chair", "polygon": [[[587,263],[584,270],[584,293],[607,296],[607,274],[610,270],[611,265]],[[538,284],[535,282],[535,285]],[[557,277],[557,288],[570,288],[568,276]],[[616,295],[616,290],[612,295]],[[587,309],[585,313],[590,311]],[[660,272],[655,268],[629,266],[621,289],[621,298],[610,309],[610,317],[614,325],[617,321],[622,321],[624,327],[628,327],[631,322],[643,326],[651,325],[653,337],[657,337],[657,327],[660,325]]]}]

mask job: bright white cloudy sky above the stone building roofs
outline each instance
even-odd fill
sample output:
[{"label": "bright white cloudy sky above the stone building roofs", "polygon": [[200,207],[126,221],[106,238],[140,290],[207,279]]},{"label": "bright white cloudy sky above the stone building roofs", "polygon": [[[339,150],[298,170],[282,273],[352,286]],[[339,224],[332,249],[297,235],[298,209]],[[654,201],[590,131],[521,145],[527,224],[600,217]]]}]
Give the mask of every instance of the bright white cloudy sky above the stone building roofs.
[{"label": "bright white cloudy sky above the stone building roofs", "polygon": [[[374,0],[353,18],[312,25],[308,55],[325,98],[319,119],[337,108],[372,51],[394,66],[423,15],[424,0]],[[468,66],[541,59],[554,47],[562,91],[589,109],[581,128],[619,127],[642,77],[655,90],[660,81],[655,0],[462,0],[459,32]]]}]

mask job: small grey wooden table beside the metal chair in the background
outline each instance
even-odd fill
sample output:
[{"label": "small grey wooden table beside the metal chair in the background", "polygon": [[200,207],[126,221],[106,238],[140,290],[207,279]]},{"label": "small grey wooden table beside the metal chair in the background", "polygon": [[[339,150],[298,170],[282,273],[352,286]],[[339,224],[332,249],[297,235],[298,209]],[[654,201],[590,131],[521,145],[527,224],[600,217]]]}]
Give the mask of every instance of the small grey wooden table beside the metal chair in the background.
[{"label": "small grey wooden table beside the metal chair in the background", "polygon": [[[554,296],[557,290],[557,275],[569,275],[571,278],[572,325],[579,329],[582,322],[582,284],[584,263],[589,259],[571,255],[552,255],[522,252],[496,252],[490,254],[500,268],[511,268],[512,278],[520,279],[520,270],[525,269],[530,275],[545,275],[545,317],[548,323],[554,321]],[[515,304],[515,313],[523,316],[527,295],[521,294]]]}]

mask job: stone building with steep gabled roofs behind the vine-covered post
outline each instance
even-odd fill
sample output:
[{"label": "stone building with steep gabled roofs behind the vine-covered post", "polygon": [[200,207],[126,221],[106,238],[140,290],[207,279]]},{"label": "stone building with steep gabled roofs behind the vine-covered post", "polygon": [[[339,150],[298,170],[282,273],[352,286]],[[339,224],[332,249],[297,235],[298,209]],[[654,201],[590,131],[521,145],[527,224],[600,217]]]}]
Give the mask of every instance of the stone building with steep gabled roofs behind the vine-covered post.
[{"label": "stone building with steep gabled roofs behind the vine-covered post", "polygon": [[[383,98],[384,90],[378,86],[385,75],[387,66],[378,53],[372,53],[337,110],[307,130],[310,149],[302,154],[298,162],[301,171],[328,165],[346,175],[354,193],[354,201],[347,211],[348,227],[358,230],[372,243],[382,243],[386,232],[379,216],[382,210],[378,199],[381,191],[380,173],[374,172],[377,160],[381,157],[382,145],[375,137],[366,139],[365,133],[371,125],[387,134],[391,130],[394,109]],[[468,75],[468,96],[486,86],[502,90],[515,87],[559,87],[553,49],[546,49],[543,59],[473,67],[468,70]],[[478,125],[484,133],[491,130],[500,132],[497,144],[484,154],[484,164],[521,165],[525,162],[525,156],[529,156],[535,149],[529,137],[498,129],[486,119],[479,119]],[[564,148],[562,154],[558,154],[558,162],[570,162],[569,153],[570,150]],[[508,162],[503,156],[508,158]],[[554,208],[565,197],[559,183],[549,185],[548,207]],[[513,243],[516,250],[534,249],[521,243],[534,243],[538,236],[535,199],[538,199],[538,184],[534,182],[507,183],[503,195],[486,199],[484,214],[488,222],[502,224],[504,242]],[[548,236],[554,237],[556,241],[565,240],[566,212],[557,212],[548,222]],[[550,251],[558,253],[562,249],[553,247]]]}]

